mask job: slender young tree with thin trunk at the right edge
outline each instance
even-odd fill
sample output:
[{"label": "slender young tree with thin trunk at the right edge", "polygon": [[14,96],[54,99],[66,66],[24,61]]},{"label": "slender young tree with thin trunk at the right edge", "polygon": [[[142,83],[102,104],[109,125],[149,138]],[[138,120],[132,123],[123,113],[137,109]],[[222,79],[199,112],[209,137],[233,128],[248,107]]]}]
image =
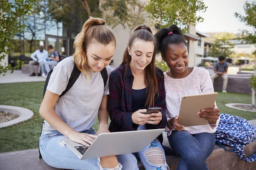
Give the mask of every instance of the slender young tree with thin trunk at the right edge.
[{"label": "slender young tree with thin trunk at the right edge", "polygon": [[[250,44],[256,44],[256,2],[253,3],[244,3],[244,12],[245,15],[235,13],[235,17],[243,22],[246,26],[249,26],[253,31],[242,30],[241,39],[247,41]],[[256,51],[255,54],[255,63],[256,63]],[[255,90],[256,90],[256,64],[254,66],[254,74],[250,78],[250,85],[252,86],[252,105],[255,106]]]}]

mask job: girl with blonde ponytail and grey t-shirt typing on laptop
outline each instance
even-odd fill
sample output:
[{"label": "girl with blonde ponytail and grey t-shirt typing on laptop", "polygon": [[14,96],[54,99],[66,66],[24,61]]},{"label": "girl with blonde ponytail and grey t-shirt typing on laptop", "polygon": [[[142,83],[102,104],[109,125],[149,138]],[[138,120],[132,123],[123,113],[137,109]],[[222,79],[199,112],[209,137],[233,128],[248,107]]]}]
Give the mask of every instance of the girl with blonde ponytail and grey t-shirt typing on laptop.
[{"label": "girl with blonde ponytail and grey t-shirt typing on laptop", "polygon": [[[105,82],[102,71],[107,71],[109,77],[109,63],[116,48],[114,34],[105,26],[105,20],[90,17],[76,36],[74,48],[73,56],[59,62],[47,77],[49,82],[39,110],[44,118],[39,139],[41,156],[50,166],[62,169],[121,170],[126,166],[132,170],[131,154],[124,154],[122,164],[116,156],[81,160],[64,143],[72,140],[90,146],[97,135],[109,133],[109,78]],[[73,77],[74,72],[78,76]],[[97,115],[96,133],[93,124]]]}]

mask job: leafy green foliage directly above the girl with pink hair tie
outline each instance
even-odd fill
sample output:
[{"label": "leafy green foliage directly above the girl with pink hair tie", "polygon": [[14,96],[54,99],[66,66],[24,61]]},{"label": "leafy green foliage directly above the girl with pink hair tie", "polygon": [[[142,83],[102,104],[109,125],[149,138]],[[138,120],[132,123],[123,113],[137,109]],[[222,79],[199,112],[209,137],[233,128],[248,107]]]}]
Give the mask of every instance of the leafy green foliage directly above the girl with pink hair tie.
[{"label": "leafy green foliage directly above the girl with pink hair tie", "polygon": [[151,23],[160,24],[161,28],[175,24],[183,28],[184,32],[189,25],[195,26],[204,21],[195,14],[197,11],[205,12],[206,9],[203,0],[150,0],[146,6]]}]

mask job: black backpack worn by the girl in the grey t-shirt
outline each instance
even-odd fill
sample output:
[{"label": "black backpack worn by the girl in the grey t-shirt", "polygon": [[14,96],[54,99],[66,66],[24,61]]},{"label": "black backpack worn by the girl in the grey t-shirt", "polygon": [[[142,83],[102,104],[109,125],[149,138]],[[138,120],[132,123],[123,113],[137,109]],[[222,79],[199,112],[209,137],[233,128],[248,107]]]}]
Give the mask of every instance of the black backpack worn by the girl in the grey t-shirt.
[{"label": "black backpack worn by the girl in the grey t-shirt", "polygon": [[[70,55],[72,56],[72,55]],[[67,57],[70,57],[70,56],[67,56]],[[67,57],[62,57],[61,61]],[[43,99],[44,99],[44,94],[46,92],[46,88],[47,88],[47,85],[48,85],[48,82],[49,82],[49,79],[51,77],[51,74],[52,74],[52,71],[53,71],[53,68],[51,71],[49,71],[49,73],[47,74],[47,78],[45,80],[45,84],[44,84],[44,93],[43,93]],[[76,63],[74,63],[74,67],[73,67],[73,70],[72,70],[72,73],[71,73],[71,76],[70,76],[70,79],[67,83],[67,88],[62,92],[62,94],[59,96],[59,98],[61,96],[63,96],[64,94],[67,93],[67,91],[69,91],[70,88],[72,88],[72,86],[74,85],[74,83],[76,82],[76,80],[78,79],[79,75],[80,75],[81,71],[76,67]],[[107,69],[106,68],[103,68],[102,71],[100,71],[100,74],[102,75],[102,79],[103,79],[103,82],[104,82],[104,87],[106,86],[106,83],[107,83],[107,80],[108,80],[108,72],[107,72]],[[41,126],[41,133],[40,133],[40,136],[42,134],[42,128],[43,128],[43,123],[44,123],[44,119],[43,119],[43,122],[42,122],[42,126]],[[38,149],[39,149],[39,145],[38,145]],[[42,156],[41,156],[41,153],[40,153],[40,149],[39,149],[39,159],[41,159]]]}]

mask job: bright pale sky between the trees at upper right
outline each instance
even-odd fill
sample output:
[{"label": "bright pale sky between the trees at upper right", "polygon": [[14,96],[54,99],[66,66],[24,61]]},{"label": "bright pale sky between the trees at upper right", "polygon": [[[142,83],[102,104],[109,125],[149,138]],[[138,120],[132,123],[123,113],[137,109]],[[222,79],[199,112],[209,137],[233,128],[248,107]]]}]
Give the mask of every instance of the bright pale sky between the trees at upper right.
[{"label": "bright pale sky between the trees at upper right", "polygon": [[197,16],[204,18],[202,23],[196,25],[196,30],[201,32],[230,32],[241,33],[239,29],[251,28],[245,26],[236,17],[235,12],[244,15],[244,3],[253,0],[204,0],[208,6],[205,12],[197,12]]}]

